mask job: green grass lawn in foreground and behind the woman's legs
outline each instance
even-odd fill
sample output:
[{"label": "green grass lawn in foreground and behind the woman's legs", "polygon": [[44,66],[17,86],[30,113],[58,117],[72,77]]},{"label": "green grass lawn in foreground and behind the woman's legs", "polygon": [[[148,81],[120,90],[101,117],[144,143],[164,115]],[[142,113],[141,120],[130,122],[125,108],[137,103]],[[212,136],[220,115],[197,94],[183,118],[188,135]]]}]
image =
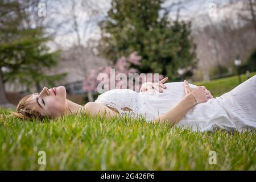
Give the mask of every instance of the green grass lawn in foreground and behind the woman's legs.
[{"label": "green grass lawn in foreground and behind the woman's legs", "polygon": [[[220,96],[238,84],[236,79],[196,85]],[[9,112],[0,109],[0,114]],[[119,117],[69,115],[43,122],[7,117],[0,119],[0,169],[255,170],[255,134],[193,133]],[[46,152],[46,165],[38,164],[39,151]],[[210,151],[216,152],[217,164],[209,164]]]}]

